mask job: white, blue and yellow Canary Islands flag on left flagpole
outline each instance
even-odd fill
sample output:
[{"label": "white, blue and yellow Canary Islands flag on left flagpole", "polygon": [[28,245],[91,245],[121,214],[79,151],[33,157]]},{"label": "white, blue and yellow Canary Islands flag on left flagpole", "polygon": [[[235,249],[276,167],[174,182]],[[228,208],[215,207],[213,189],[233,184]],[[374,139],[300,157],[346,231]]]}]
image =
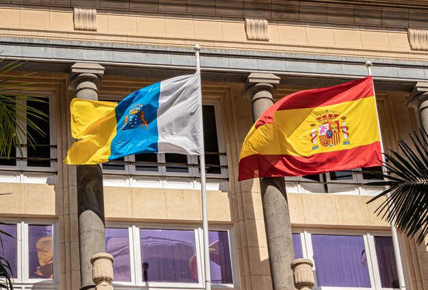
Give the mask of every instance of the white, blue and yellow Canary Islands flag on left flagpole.
[{"label": "white, blue and yellow Canary Islands flag on left flagpole", "polygon": [[120,103],[71,102],[78,139],[67,164],[96,164],[138,153],[203,154],[200,73],[149,85]]}]

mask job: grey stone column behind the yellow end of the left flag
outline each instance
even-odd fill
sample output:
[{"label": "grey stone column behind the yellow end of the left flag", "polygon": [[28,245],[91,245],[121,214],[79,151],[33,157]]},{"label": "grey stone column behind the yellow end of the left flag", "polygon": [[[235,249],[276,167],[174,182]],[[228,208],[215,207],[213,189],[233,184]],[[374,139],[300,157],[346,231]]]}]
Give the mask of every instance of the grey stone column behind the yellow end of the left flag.
[{"label": "grey stone column behind the yellow end of the left flag", "polygon": [[[75,90],[76,98],[97,101],[103,75],[104,68],[99,64],[73,64],[69,89]],[[91,256],[105,252],[103,170],[100,165],[77,166],[77,211],[81,290],[95,289]]]}]

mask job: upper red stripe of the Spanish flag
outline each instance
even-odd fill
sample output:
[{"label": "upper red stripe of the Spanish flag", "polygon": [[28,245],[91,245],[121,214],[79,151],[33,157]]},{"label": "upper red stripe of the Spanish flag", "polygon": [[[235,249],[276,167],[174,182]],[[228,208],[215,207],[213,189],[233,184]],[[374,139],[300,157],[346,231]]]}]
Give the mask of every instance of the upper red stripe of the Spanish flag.
[{"label": "upper red stripe of the Spanish flag", "polygon": [[284,96],[284,98],[280,99],[280,101],[276,102],[264,111],[256,122],[256,128],[265,123],[273,122],[273,115],[276,111],[324,107],[349,101],[356,101],[360,98],[367,98],[370,96],[374,96],[371,75],[369,75],[369,77],[364,77],[363,79],[334,85],[329,88],[295,92],[294,94]]}]

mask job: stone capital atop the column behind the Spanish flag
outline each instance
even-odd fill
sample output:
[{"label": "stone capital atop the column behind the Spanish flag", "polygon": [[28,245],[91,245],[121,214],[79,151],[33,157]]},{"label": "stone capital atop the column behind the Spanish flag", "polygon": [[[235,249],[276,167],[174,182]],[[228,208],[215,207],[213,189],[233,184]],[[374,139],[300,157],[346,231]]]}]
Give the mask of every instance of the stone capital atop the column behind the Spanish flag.
[{"label": "stone capital atop the column behind the Spanish flag", "polygon": [[245,81],[245,85],[242,90],[242,96],[248,98],[250,101],[254,101],[253,97],[257,92],[266,90],[273,94],[276,92],[276,85],[280,83],[280,77],[271,73],[263,72],[252,72]]}]

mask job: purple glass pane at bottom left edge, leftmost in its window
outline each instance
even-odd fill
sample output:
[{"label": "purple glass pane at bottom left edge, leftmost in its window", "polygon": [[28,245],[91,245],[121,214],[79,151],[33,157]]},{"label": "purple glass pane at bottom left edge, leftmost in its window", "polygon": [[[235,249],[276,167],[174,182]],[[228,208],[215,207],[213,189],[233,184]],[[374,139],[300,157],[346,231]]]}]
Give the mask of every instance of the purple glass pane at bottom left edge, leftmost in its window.
[{"label": "purple glass pane at bottom left edge, leftmost in its window", "polygon": [[6,261],[10,263],[10,269],[12,269],[12,273],[8,270],[8,273],[16,278],[16,270],[17,270],[17,240],[16,240],[16,224],[0,224],[0,230],[8,233],[12,237],[8,237],[7,235],[0,234],[1,244],[0,244],[0,256],[2,256]]}]

